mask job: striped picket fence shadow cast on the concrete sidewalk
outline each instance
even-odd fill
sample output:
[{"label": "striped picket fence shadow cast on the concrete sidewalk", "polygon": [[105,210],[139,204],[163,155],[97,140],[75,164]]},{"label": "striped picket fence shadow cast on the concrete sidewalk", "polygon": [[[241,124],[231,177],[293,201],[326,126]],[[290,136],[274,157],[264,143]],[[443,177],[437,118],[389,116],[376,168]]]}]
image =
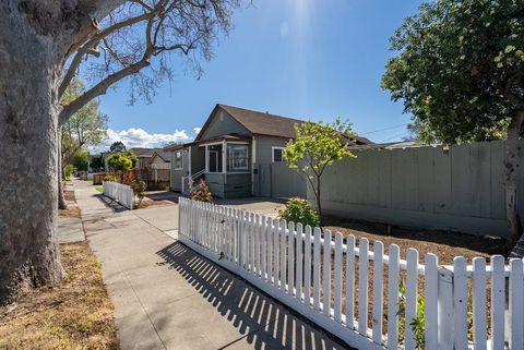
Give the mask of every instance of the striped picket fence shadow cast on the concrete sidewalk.
[{"label": "striped picket fence shadow cast on the concrete sidewalk", "polygon": [[[219,349],[347,349],[275,300],[180,242],[157,252],[234,325],[238,337]],[[213,329],[210,329],[212,336]],[[236,340],[235,340],[236,339]],[[342,342],[341,342],[342,343]]]}]

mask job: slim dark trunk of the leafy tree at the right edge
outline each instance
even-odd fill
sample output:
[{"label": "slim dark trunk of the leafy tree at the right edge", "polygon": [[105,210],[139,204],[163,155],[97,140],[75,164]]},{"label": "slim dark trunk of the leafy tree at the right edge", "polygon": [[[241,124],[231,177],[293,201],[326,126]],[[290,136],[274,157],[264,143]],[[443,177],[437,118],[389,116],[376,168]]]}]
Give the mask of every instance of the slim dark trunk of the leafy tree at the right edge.
[{"label": "slim dark trunk of the leafy tree at the right edge", "polygon": [[520,166],[519,137],[524,121],[524,110],[517,110],[508,128],[505,143],[504,189],[505,189],[505,218],[508,221],[508,248],[512,249],[522,236],[522,222],[519,215],[516,176]]}]

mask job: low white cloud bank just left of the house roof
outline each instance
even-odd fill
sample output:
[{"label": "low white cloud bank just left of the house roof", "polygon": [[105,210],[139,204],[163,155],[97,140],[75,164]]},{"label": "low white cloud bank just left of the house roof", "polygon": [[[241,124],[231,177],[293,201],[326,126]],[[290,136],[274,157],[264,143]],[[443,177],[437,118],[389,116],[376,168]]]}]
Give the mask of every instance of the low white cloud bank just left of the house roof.
[{"label": "low white cloud bank just left of the house roof", "polygon": [[[193,131],[196,131],[199,128],[194,128]],[[163,134],[163,133],[148,133],[141,128],[130,128],[128,130],[112,130],[108,129],[107,137],[102,142],[102,144],[97,147],[98,150],[106,150],[109,146],[117,141],[122,142],[127,148],[132,147],[164,147],[171,143],[179,143],[179,142],[189,142],[192,141],[195,136],[190,135],[186,132],[186,130],[175,130],[171,134]]]}]

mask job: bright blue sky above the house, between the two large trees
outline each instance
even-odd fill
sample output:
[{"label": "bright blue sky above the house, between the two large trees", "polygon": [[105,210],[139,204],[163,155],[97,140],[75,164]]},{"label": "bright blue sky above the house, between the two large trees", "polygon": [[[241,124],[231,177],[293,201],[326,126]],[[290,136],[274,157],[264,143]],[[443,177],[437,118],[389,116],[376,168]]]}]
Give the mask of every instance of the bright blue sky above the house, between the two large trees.
[{"label": "bright blue sky above the house, between the two large trees", "polygon": [[419,3],[255,0],[235,13],[200,80],[179,70],[150,105],[128,106],[126,83],[103,96],[110,141],[188,141],[217,102],[313,121],[341,117],[374,142],[401,140],[409,116],[380,79],[393,55],[389,37]]}]

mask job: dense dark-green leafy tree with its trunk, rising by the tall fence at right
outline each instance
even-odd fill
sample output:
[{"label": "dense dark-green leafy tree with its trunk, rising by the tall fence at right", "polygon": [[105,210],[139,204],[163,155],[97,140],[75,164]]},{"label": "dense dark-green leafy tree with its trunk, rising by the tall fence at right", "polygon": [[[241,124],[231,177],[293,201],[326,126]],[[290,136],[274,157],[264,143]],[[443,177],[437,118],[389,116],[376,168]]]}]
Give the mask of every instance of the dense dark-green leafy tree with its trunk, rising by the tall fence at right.
[{"label": "dense dark-green leafy tree with its trunk, rising by the tall fence at right", "polygon": [[522,234],[517,141],[524,121],[524,2],[440,0],[422,4],[391,38],[396,56],[382,86],[413,113],[422,142],[507,138],[509,245]]}]

